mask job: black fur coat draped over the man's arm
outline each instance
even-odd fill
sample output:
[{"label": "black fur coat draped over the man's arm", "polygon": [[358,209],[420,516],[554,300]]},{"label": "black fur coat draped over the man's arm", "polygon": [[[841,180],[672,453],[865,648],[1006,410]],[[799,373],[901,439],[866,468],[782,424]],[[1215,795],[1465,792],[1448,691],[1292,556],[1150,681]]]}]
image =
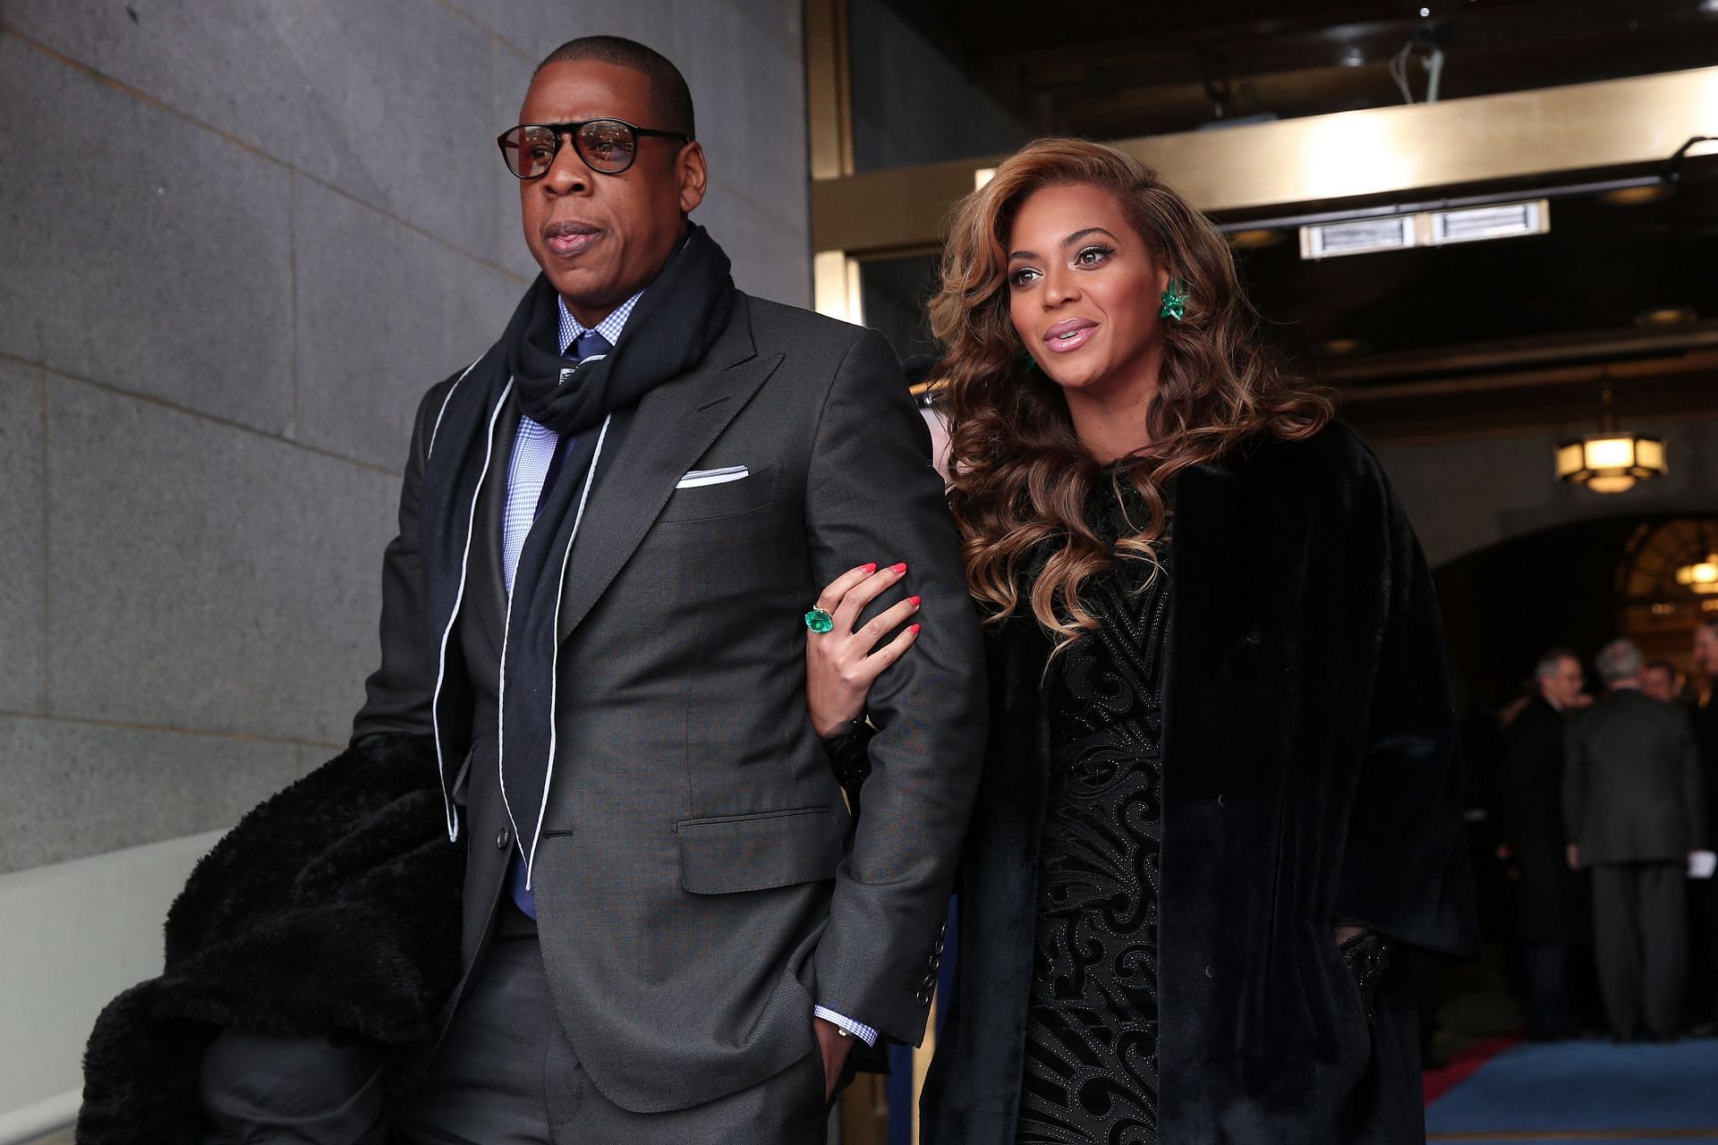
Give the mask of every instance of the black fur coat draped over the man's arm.
[{"label": "black fur coat draped over the man's arm", "polygon": [[362,1035],[409,1085],[459,978],[464,862],[430,736],[361,740],[249,812],[174,901],[161,977],[96,1020],[77,1145],[199,1142],[198,1066],[225,1025]]}]

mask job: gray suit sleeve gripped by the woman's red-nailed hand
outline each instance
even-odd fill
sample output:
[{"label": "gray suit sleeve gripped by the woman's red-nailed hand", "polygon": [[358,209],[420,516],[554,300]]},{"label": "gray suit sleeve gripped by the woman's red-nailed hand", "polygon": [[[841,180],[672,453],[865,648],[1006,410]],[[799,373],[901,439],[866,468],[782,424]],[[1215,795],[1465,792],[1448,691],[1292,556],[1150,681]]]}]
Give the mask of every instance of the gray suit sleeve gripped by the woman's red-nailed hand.
[{"label": "gray suit sleeve gripped by the woman's red-nailed hand", "polygon": [[871,776],[814,956],[816,1001],[897,1042],[924,1037],[960,839],[984,754],[984,654],[929,434],[873,331],[837,371],[806,493],[811,572],[905,561],[923,630],[869,695]]}]

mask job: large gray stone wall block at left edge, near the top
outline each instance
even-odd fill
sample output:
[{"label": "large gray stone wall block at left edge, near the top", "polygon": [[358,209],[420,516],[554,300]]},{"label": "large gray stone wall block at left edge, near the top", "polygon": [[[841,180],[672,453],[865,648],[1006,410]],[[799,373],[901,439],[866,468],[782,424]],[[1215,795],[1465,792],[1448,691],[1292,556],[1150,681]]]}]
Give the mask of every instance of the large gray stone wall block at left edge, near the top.
[{"label": "large gray stone wall block at left edge, near the top", "polygon": [[285,429],[287,172],[12,36],[0,106],[0,352]]}]

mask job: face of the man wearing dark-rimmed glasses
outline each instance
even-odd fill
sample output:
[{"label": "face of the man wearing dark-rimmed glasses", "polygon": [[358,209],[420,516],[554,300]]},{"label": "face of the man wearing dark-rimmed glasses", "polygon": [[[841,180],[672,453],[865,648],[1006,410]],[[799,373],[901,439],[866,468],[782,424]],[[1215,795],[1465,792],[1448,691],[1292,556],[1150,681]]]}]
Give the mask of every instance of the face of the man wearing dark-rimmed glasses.
[{"label": "face of the man wearing dark-rimmed glasses", "polygon": [[[594,60],[550,64],[519,108],[521,124],[591,118],[667,129],[649,79]],[[704,199],[704,175],[703,148],[660,136],[641,136],[618,175],[593,172],[569,134],[545,175],[519,180],[526,245],[574,318],[594,326],[661,271]]]}]

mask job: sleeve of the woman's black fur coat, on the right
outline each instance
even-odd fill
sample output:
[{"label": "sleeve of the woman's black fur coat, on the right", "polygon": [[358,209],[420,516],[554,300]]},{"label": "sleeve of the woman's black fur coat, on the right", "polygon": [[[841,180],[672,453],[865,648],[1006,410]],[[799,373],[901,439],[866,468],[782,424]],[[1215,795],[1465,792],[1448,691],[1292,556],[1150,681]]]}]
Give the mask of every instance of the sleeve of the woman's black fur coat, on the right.
[{"label": "sleeve of the woman's black fur coat, on the right", "polygon": [[1407,515],[1380,470],[1373,481],[1386,597],[1337,918],[1435,953],[1472,954],[1479,927],[1443,625]]}]

